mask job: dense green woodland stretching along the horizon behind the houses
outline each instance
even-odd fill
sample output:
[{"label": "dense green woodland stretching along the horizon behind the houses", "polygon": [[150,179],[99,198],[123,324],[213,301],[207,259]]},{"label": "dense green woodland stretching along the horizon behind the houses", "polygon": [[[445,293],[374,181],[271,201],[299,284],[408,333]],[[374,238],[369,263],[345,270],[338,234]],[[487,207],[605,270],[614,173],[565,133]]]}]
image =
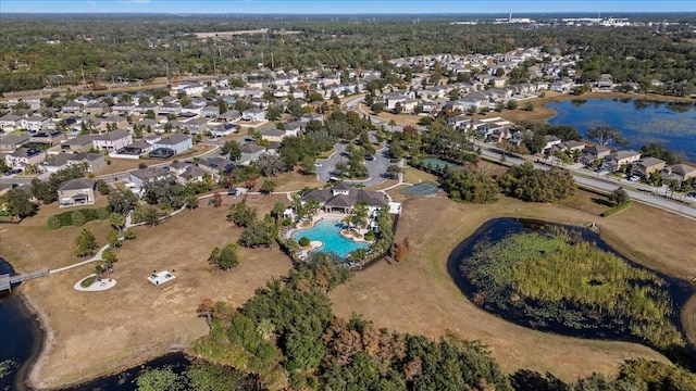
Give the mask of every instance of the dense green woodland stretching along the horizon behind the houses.
[{"label": "dense green woodland stretching along the horizon behind the houses", "polygon": [[[668,16],[693,23],[693,18]],[[696,92],[694,33],[656,27],[450,25],[449,18],[299,18],[291,16],[3,15],[2,90],[158,76],[232,74],[322,64],[328,70],[383,68],[385,60],[433,53],[495,53],[520,47],[580,54],[580,81],[610,73],[616,81],[673,83],[667,92]],[[269,28],[265,35],[198,39],[194,33]],[[282,31],[301,31],[297,35]],[[48,43],[48,41],[60,43]],[[270,55],[273,53],[273,55]]]}]

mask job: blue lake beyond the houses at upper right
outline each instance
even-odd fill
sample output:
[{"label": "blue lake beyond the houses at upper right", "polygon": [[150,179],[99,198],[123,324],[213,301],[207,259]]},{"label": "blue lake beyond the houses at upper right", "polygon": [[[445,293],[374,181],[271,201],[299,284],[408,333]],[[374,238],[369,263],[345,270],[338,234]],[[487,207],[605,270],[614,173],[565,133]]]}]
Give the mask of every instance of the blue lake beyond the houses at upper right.
[{"label": "blue lake beyond the houses at upper right", "polygon": [[621,130],[629,142],[626,149],[637,151],[644,144],[658,142],[696,162],[694,103],[587,99],[551,102],[546,106],[556,111],[549,124],[573,125],[583,137],[593,126],[608,125]]}]

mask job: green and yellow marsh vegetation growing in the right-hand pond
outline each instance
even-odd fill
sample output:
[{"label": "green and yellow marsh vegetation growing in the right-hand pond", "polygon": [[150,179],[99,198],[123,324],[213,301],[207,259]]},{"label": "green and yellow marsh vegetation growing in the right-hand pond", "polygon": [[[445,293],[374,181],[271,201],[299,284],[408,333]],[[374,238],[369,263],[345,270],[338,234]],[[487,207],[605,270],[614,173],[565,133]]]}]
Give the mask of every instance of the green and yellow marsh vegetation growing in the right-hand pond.
[{"label": "green and yellow marsh vegetation growing in the right-hand pond", "polygon": [[473,250],[459,260],[476,305],[542,330],[637,339],[662,352],[685,346],[668,281],[587,241],[581,230],[536,228],[511,234],[498,227],[504,232],[496,240],[470,243]]}]

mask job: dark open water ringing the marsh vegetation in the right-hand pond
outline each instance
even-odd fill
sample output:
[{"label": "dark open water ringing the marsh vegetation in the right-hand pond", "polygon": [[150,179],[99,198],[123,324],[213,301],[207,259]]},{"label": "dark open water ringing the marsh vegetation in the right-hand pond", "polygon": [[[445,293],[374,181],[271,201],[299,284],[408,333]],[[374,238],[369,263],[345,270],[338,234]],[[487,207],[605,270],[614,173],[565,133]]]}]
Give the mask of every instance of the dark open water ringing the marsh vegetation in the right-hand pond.
[{"label": "dark open water ringing the marsh vegetation in the right-hand pond", "polygon": [[[679,330],[681,330],[681,321],[680,321],[680,313],[679,308],[683,307],[683,304],[691,298],[694,293],[693,287],[687,282],[676,278],[672,278],[670,276],[656,273],[649,270],[641,265],[632,263],[621,256],[620,253],[612,250],[606,242],[604,242],[600,237],[584,228],[573,227],[573,226],[564,226],[564,225],[556,225],[546,222],[539,220],[529,220],[529,219],[514,219],[514,218],[496,218],[486,222],[482,225],[472,236],[463,240],[449,255],[448,258],[448,270],[453,279],[455,283],[459,287],[459,289],[464,293],[472,302],[482,307],[483,310],[490,312],[506,320],[512,321],[514,324],[530,327],[533,329],[537,329],[540,331],[548,331],[570,337],[580,337],[580,338],[591,338],[591,339],[611,339],[611,340],[623,340],[623,341],[633,341],[638,343],[646,342],[643,339],[639,339],[633,335],[631,335],[626,329],[620,330],[608,325],[611,325],[610,321],[606,321],[607,319],[600,318],[596,325],[591,325],[591,327],[570,327],[567,323],[561,320],[555,321],[555,318],[544,319],[545,321],[538,321],[539,318],[535,318],[530,315],[530,312],[521,311],[519,308],[523,308],[522,305],[509,305],[507,308],[501,308],[498,305],[492,304],[490,302],[482,302],[478,295],[480,291],[475,281],[469,280],[464,274],[461,272],[462,265],[464,262],[469,260],[472,255],[476,254],[482,249],[486,248],[492,243],[499,243],[505,241],[506,239],[518,235],[518,234],[527,234],[527,232],[542,232],[547,231],[548,229],[554,228],[564,228],[567,230],[572,230],[572,232],[577,232],[582,237],[582,241],[586,241],[595,244],[598,249],[604,250],[605,252],[614,254],[619,256],[623,262],[633,268],[650,272],[656,275],[658,278],[664,281],[664,286],[662,290],[666,294],[669,295],[669,301],[672,303],[672,308],[676,308],[671,313],[671,316],[668,319],[668,323],[671,324]],[[543,252],[542,252],[543,254]],[[538,256],[537,256],[538,257]],[[464,265],[465,266],[465,265]],[[592,282],[592,281],[591,281]],[[498,283],[498,281],[487,281],[488,285]],[[520,299],[517,299],[520,300]],[[522,299],[523,301],[527,301],[527,299]],[[512,301],[512,300],[511,300]],[[529,302],[525,302],[526,305]],[[540,302],[536,302],[540,303]],[[568,303],[568,302],[566,302]],[[548,305],[548,302],[545,303]],[[533,305],[533,304],[532,304]],[[566,305],[566,304],[564,304]],[[529,307],[529,305],[527,305]],[[546,311],[546,307],[542,310]],[[569,310],[576,310],[573,307],[569,307]],[[560,319],[560,318],[557,318]],[[586,325],[583,325],[586,326]],[[688,354],[692,357],[696,357],[694,355],[694,351],[692,350]]]}]

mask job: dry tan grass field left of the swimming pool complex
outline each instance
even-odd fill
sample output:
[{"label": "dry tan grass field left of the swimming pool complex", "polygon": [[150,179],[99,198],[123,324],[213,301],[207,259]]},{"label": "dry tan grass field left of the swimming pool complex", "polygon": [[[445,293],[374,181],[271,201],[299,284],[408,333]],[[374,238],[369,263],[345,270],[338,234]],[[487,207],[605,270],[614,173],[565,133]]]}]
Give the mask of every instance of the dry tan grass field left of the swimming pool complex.
[{"label": "dry tan grass field left of the swimming pool complex", "polygon": [[[213,270],[208,256],[214,247],[236,242],[241,232],[225,220],[227,209],[239,198],[223,195],[220,209],[201,206],[184,211],[153,228],[135,228],[137,239],[117,250],[113,275],[117,285],[103,292],[78,292],[73,285],[91,273],[96,264],[53,274],[25,283],[20,291],[45,310],[54,342],[48,360],[35,376],[44,387],[60,387],[117,370],[134,362],[187,348],[208,333],[196,308],[202,299],[244,304],[257,288],[287,274],[291,264],[277,250],[240,249],[241,264],[229,272]],[[263,212],[283,195],[249,197],[248,204]],[[63,210],[61,210],[63,211]],[[73,241],[82,228],[48,230],[46,219],[58,212],[44,206],[39,215],[20,225],[1,228],[2,253],[17,272],[57,268],[78,261]],[[89,223],[100,243],[107,223]],[[146,278],[153,270],[176,276],[162,286]]]}]

